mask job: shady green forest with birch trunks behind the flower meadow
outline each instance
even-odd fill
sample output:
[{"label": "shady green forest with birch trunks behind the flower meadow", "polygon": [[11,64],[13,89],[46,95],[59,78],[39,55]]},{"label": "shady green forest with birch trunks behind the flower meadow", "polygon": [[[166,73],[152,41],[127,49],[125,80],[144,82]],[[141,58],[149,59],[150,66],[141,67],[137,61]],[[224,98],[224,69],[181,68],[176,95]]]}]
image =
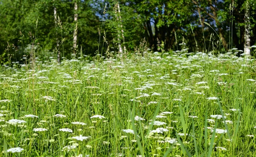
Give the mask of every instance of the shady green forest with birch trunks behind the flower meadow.
[{"label": "shady green forest with birch trunks behind the flower meadow", "polygon": [[144,38],[153,51],[244,50],[256,43],[255,12],[255,0],[0,0],[0,55],[132,52]]}]

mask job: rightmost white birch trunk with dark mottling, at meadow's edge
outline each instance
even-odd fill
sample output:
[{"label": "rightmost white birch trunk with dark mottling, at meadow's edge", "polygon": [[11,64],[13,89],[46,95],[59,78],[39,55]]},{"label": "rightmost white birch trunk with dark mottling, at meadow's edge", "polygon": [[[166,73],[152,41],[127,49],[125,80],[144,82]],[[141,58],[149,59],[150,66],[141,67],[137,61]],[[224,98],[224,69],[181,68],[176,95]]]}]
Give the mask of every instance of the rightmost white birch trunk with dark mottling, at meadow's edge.
[{"label": "rightmost white birch trunk with dark mottling, at meadow's edge", "polygon": [[245,9],[244,14],[244,22],[245,26],[245,35],[244,35],[244,54],[250,55],[250,11],[249,9]]}]

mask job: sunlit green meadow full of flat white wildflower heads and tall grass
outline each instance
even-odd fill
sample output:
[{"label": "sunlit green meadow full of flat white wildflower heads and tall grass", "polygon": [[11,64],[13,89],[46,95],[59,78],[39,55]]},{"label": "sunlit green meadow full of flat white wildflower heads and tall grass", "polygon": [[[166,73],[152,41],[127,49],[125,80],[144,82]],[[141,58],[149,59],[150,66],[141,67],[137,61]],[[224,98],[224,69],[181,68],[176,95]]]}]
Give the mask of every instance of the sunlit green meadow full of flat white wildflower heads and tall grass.
[{"label": "sunlit green meadow full of flat white wildflower heads and tall grass", "polygon": [[256,62],[237,53],[2,66],[0,156],[255,157]]}]

